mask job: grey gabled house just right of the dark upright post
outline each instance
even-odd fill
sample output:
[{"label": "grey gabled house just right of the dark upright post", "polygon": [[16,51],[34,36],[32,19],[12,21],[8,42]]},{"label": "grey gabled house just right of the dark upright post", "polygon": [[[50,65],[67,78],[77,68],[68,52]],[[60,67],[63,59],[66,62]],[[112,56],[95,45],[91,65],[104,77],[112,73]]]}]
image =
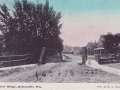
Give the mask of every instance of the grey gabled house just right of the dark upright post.
[{"label": "grey gabled house just right of the dark upright post", "polygon": [[95,42],[88,42],[86,45],[87,55],[94,55],[94,49],[97,48],[98,44]]}]

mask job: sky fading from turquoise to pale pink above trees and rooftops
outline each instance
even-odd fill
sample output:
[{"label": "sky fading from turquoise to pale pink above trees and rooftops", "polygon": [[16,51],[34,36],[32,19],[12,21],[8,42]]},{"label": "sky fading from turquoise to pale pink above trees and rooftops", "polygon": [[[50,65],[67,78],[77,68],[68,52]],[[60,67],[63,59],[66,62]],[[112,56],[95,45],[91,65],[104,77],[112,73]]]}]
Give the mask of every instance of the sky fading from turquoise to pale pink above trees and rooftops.
[{"label": "sky fading from turquoise to pale pink above trees and rooftops", "polygon": [[[37,0],[29,0],[37,2]],[[45,0],[38,0],[45,3]],[[12,8],[14,0],[0,0]],[[62,13],[60,37],[69,46],[87,45],[108,32],[120,33],[120,0],[49,0]]]}]

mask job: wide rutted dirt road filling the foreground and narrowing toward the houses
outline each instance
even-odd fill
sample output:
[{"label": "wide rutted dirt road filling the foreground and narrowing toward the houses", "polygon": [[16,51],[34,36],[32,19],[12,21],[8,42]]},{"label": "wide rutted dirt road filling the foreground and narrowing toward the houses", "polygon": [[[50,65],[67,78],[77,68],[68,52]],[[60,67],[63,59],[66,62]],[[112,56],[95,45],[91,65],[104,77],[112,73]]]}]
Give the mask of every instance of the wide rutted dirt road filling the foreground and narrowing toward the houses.
[{"label": "wide rutted dirt road filling the foreground and narrowing toward the houses", "polygon": [[[42,82],[42,83],[110,83],[120,82],[120,76],[104,71],[94,71],[86,65],[80,65],[81,56],[67,55],[68,59],[51,62],[41,66],[24,67],[0,71],[0,82]],[[89,70],[89,72],[86,72]],[[37,71],[37,74],[36,74]],[[103,77],[104,76],[104,77]],[[38,78],[38,79],[37,79]]]}]

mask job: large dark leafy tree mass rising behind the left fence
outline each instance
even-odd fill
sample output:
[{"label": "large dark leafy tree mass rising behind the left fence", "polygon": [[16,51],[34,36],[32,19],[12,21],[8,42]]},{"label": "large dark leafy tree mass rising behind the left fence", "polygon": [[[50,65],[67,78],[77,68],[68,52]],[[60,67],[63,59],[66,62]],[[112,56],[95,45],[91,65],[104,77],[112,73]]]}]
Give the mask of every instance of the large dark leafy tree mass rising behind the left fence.
[{"label": "large dark leafy tree mass rising behind the left fence", "polygon": [[40,53],[42,47],[63,49],[61,13],[55,12],[46,0],[45,5],[27,0],[15,0],[14,11],[0,6],[0,21],[6,50],[14,54]]}]

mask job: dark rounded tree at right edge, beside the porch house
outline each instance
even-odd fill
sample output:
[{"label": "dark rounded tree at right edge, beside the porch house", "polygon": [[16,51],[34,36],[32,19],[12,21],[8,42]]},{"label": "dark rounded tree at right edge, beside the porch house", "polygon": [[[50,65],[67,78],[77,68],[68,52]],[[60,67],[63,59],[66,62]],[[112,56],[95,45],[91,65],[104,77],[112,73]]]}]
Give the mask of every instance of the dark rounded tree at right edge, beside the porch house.
[{"label": "dark rounded tree at right edge, beside the porch house", "polygon": [[106,52],[109,54],[115,54],[118,52],[120,44],[120,35],[112,33],[108,33],[104,36],[103,47],[105,48]]}]

